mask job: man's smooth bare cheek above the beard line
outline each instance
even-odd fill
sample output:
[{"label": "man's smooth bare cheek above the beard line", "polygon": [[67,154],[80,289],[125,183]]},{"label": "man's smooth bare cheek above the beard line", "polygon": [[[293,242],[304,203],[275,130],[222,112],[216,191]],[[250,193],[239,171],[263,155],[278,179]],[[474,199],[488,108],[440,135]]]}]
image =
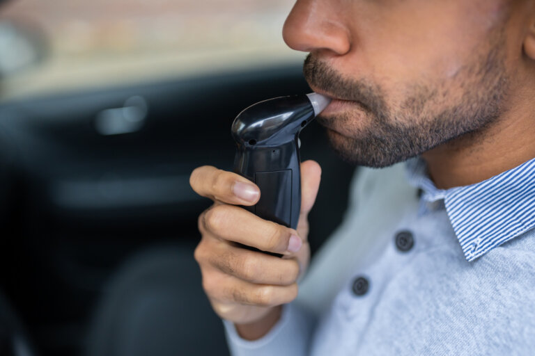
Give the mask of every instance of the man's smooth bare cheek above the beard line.
[{"label": "man's smooth bare cheek above the beard line", "polygon": [[351,31],[352,51],[336,66],[353,78],[377,83],[389,101],[408,85],[453,78],[480,51],[488,33],[500,24],[497,0],[388,1],[360,8]]}]

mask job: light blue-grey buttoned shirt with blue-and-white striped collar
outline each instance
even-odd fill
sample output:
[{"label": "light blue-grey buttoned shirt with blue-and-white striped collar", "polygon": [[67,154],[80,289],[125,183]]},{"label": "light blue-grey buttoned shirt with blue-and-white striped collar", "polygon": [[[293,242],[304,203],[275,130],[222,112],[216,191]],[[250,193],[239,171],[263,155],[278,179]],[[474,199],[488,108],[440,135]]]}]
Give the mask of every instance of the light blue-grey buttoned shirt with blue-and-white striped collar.
[{"label": "light blue-grey buttoned shirt with blue-and-white striped collar", "polygon": [[413,159],[351,195],[265,337],[224,321],[233,355],[535,355],[535,159],[449,190]]}]

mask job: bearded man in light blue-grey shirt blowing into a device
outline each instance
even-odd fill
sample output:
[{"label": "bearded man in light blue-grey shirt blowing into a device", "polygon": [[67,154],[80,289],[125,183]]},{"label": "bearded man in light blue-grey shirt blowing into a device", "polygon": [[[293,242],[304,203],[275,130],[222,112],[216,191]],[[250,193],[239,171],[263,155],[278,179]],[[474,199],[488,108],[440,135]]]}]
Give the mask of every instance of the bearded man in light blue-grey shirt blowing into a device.
[{"label": "bearded man in light blue-grey shirt blowing into a device", "polygon": [[[233,353],[532,354],[535,1],[297,0],[284,40],[334,98],[318,122],[339,154],[372,168],[410,160],[362,172],[304,302],[293,300],[318,164],[302,163],[296,231],[236,207],[261,194],[246,179],[192,172],[214,200],[195,257]],[[365,243],[359,258],[350,240],[362,238],[381,251]]]}]

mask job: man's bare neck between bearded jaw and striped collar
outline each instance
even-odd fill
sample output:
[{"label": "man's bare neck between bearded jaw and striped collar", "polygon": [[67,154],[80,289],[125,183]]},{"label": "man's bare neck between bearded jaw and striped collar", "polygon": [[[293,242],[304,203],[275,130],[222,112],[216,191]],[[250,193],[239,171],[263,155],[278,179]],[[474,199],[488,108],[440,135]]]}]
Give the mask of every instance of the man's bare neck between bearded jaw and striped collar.
[{"label": "man's bare neck between bearded jaw and striped collar", "polygon": [[437,188],[478,183],[533,159],[535,107],[530,106],[534,105],[511,105],[485,129],[422,154]]}]

